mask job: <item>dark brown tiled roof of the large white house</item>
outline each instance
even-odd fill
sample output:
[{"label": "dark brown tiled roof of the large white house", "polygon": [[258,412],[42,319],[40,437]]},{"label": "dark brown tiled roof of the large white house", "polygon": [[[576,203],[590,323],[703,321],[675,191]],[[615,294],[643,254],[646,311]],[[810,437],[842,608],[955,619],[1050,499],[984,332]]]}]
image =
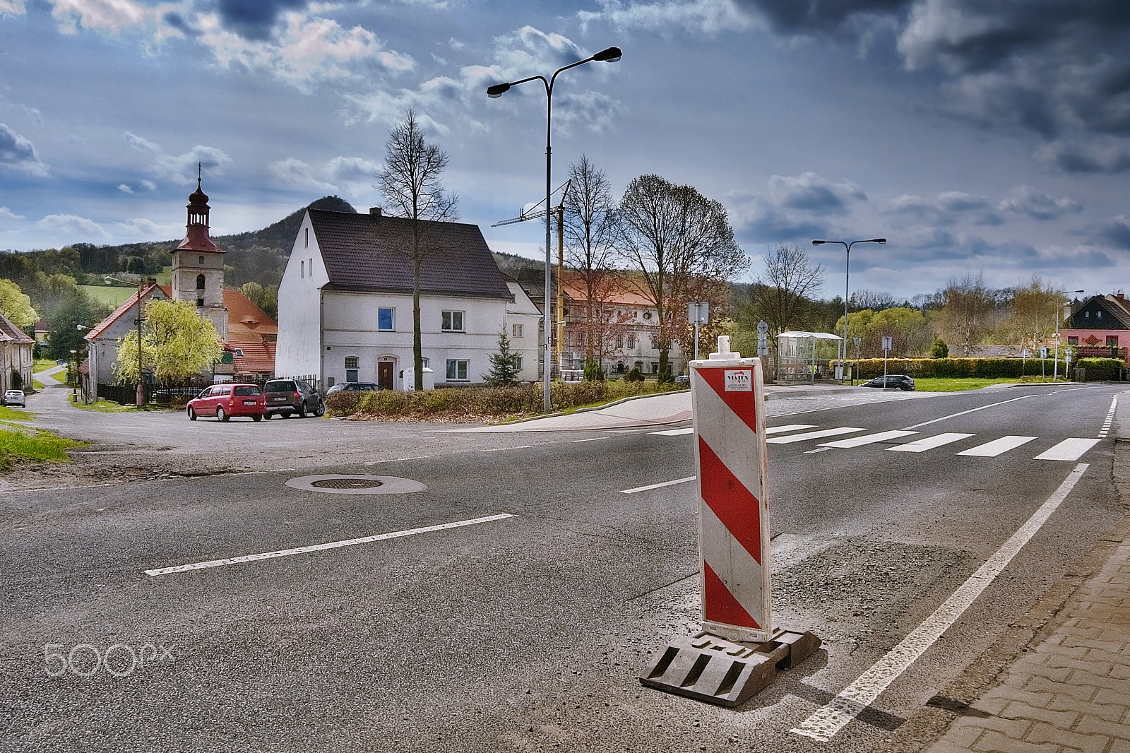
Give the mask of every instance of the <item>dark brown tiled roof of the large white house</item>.
[{"label": "dark brown tiled roof of the large white house", "polygon": [[[329,289],[411,293],[407,253],[411,223],[401,217],[307,209],[322,251]],[[420,291],[432,295],[510,300],[490,249],[477,225],[425,224],[432,249],[420,271]]]}]

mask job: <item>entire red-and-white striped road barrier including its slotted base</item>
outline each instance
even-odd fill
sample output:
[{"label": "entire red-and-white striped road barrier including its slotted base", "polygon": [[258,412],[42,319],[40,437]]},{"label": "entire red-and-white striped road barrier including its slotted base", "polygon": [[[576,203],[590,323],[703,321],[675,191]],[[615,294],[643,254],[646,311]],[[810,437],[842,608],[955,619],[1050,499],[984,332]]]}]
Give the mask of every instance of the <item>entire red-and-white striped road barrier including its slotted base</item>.
[{"label": "entire red-and-white striped road barrier including its slotted base", "polygon": [[773,628],[762,362],[731,352],[729,337],[718,347],[690,362],[702,630],[669,643],[640,682],[733,707],[820,641]]}]

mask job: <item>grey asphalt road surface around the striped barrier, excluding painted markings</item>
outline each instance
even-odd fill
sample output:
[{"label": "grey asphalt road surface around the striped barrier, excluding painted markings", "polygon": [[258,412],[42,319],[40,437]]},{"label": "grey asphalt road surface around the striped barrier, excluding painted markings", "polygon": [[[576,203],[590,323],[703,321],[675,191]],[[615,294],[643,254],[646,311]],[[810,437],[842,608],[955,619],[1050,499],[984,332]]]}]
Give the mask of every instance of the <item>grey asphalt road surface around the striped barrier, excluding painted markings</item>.
[{"label": "grey asphalt road surface around the striped barrier, excluding painted markings", "polygon": [[[807,425],[775,439],[859,431],[770,445],[775,623],[824,646],[737,710],[636,680],[697,626],[697,539],[692,484],[624,492],[693,476],[689,434],[76,418],[35,396],[29,409],[73,421],[92,452],[211,471],[0,494],[0,750],[866,751],[1121,518],[1113,439],[1099,438],[1121,391],[767,403],[771,429]],[[886,431],[916,433],[822,447]],[[942,433],[966,436],[894,450]],[[958,455],[1005,436],[1034,439]],[[1036,459],[1070,438],[1098,441]],[[1072,473],[1031,542],[873,703],[829,742],[790,732]],[[299,478],[363,474],[391,493]],[[167,571],[209,562],[221,564]]]}]

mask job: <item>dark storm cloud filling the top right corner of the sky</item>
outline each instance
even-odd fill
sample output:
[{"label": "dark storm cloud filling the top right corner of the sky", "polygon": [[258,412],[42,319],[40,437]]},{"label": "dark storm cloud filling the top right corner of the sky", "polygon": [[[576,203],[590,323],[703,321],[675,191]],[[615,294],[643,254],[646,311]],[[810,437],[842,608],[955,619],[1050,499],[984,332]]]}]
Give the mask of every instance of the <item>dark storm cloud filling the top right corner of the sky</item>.
[{"label": "dark storm cloud filling the top right corner of the sky", "polygon": [[790,35],[896,28],[910,71],[944,76],[945,107],[1045,139],[1130,137],[1127,0],[739,0]]}]

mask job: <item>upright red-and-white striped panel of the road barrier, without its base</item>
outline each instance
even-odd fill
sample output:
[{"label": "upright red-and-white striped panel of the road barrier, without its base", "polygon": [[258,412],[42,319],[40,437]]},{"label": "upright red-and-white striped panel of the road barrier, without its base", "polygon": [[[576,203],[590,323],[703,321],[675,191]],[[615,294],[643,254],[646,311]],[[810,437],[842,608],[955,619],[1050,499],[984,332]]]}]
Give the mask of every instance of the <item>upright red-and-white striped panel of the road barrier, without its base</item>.
[{"label": "upright red-and-white striped panel of the road barrier, without its base", "polygon": [[768,462],[760,358],[719,352],[690,362],[703,630],[733,641],[767,641],[770,615]]}]

